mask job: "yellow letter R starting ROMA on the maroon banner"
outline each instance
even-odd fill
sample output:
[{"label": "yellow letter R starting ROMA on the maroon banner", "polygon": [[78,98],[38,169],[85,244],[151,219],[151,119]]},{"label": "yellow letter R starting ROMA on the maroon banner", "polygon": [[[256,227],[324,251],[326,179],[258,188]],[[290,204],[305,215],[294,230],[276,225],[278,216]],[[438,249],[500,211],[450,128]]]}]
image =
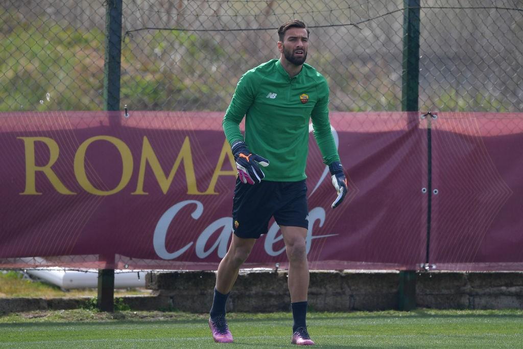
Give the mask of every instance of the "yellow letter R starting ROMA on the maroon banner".
[{"label": "yellow letter R starting ROMA on the maroon banner", "polygon": [[[48,137],[17,137],[24,141],[25,153],[26,153],[26,189],[24,193],[20,195],[41,195],[36,191],[36,178],[35,173],[37,171],[43,172],[47,176],[49,182],[53,185],[57,192],[63,195],[74,195],[76,193],[71,192],[65,185],[60,181],[58,176],[54,173],[51,166],[58,160],[60,154],[60,148],[52,138]],[[44,166],[37,166],[35,164],[35,142],[43,142],[49,148],[49,162]]]}]

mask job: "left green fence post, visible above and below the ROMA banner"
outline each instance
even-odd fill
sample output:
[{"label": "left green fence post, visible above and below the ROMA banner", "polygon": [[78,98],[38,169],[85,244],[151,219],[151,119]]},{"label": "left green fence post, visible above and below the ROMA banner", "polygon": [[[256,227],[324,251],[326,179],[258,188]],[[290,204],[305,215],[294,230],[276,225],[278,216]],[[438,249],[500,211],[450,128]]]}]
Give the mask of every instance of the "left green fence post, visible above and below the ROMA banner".
[{"label": "left green fence post, visible above and below the ROMA banner", "polygon": [[[122,51],[122,0],[106,0],[105,13],[105,64],[104,64],[104,108],[120,110],[120,66]],[[109,114],[109,125],[118,127],[118,113]],[[101,256],[114,264],[114,256]],[[98,270],[97,306],[100,311],[112,312],[115,308],[115,270]]]}]

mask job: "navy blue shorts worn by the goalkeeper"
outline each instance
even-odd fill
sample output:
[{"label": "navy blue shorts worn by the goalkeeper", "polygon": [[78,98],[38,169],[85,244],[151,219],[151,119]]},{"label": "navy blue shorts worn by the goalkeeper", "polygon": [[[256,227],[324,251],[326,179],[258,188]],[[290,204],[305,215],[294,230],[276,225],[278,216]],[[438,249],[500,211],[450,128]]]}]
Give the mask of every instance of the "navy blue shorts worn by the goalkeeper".
[{"label": "navy blue shorts worn by the goalkeeper", "polygon": [[234,234],[244,239],[258,239],[267,233],[273,216],[279,226],[309,228],[305,179],[261,181],[256,185],[236,179],[232,209]]}]

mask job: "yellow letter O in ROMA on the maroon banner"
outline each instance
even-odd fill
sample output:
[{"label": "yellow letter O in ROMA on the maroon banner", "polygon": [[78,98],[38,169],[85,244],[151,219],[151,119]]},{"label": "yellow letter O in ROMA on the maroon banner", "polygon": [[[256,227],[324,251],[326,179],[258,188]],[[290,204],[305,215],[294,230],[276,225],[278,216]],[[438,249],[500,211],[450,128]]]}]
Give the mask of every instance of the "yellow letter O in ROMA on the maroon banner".
[{"label": "yellow letter O in ROMA on the maroon banner", "polygon": [[[107,141],[115,145],[116,149],[118,149],[118,152],[120,152],[120,156],[122,157],[122,177],[120,179],[120,183],[118,183],[116,188],[112,190],[104,191],[95,188],[93,184],[89,182],[89,179],[85,173],[85,153],[87,151],[87,147],[89,147],[89,145],[95,141]],[[74,174],[78,184],[81,185],[87,193],[94,195],[112,195],[122,190],[131,179],[132,166],[133,160],[129,147],[127,147],[126,143],[120,139],[111,136],[96,136],[86,139],[82,144],[80,144],[80,147],[78,147],[78,150],[74,156]]]}]

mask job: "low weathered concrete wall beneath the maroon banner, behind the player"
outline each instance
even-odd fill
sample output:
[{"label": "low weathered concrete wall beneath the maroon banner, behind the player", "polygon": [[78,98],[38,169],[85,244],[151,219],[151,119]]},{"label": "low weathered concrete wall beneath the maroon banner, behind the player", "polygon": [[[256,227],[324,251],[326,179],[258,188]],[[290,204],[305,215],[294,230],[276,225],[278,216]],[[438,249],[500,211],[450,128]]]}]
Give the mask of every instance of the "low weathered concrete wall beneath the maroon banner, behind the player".
[{"label": "low weathered concrete wall beneath the maroon banner, behind the player", "polygon": [[[214,272],[155,273],[147,288],[171,308],[207,312],[212,303]],[[309,304],[316,311],[397,309],[397,272],[312,271]],[[165,302],[163,302],[165,303]],[[523,273],[430,272],[416,277],[416,305],[436,309],[523,309]],[[238,276],[228,311],[290,309],[287,272]]]}]

